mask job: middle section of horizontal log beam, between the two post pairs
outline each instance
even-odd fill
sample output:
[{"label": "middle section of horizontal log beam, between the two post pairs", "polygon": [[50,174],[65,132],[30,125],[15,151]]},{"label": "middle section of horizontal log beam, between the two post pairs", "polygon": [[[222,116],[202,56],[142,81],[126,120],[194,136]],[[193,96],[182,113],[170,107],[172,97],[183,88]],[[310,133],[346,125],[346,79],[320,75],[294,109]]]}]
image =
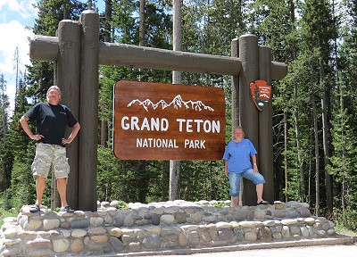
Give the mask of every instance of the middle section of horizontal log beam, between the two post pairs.
[{"label": "middle section of horizontal log beam, between the two post pairs", "polygon": [[99,62],[154,70],[177,70],[238,76],[238,58],[115,43],[99,45]]}]

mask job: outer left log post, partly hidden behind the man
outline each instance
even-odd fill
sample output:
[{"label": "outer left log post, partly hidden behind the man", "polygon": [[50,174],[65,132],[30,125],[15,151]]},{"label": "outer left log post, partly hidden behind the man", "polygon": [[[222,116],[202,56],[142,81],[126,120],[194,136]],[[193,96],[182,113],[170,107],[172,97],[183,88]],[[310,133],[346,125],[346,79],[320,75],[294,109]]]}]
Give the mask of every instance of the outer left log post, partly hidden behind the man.
[{"label": "outer left log post, partly hidden behind the man", "polygon": [[[58,26],[57,86],[62,91],[61,103],[67,105],[79,119],[80,24],[63,20]],[[67,133],[69,135],[69,132]],[[79,137],[66,145],[70,163],[67,202],[77,210],[79,185]],[[58,206],[56,206],[58,207]]]}]

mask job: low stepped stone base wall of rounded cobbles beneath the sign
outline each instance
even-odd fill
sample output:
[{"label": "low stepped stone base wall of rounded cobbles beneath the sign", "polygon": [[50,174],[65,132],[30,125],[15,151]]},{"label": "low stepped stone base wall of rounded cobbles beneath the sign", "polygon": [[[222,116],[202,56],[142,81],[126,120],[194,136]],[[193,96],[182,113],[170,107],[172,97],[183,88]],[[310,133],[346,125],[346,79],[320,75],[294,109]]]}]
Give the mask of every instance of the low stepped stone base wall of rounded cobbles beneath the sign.
[{"label": "low stepped stone base wall of rounded cobbles beneath the sign", "polygon": [[[30,213],[4,219],[0,256],[113,254],[257,244],[335,236],[307,203],[229,207],[230,202],[98,203],[98,211]],[[225,206],[222,206],[225,205]],[[219,207],[221,206],[221,207]]]}]

